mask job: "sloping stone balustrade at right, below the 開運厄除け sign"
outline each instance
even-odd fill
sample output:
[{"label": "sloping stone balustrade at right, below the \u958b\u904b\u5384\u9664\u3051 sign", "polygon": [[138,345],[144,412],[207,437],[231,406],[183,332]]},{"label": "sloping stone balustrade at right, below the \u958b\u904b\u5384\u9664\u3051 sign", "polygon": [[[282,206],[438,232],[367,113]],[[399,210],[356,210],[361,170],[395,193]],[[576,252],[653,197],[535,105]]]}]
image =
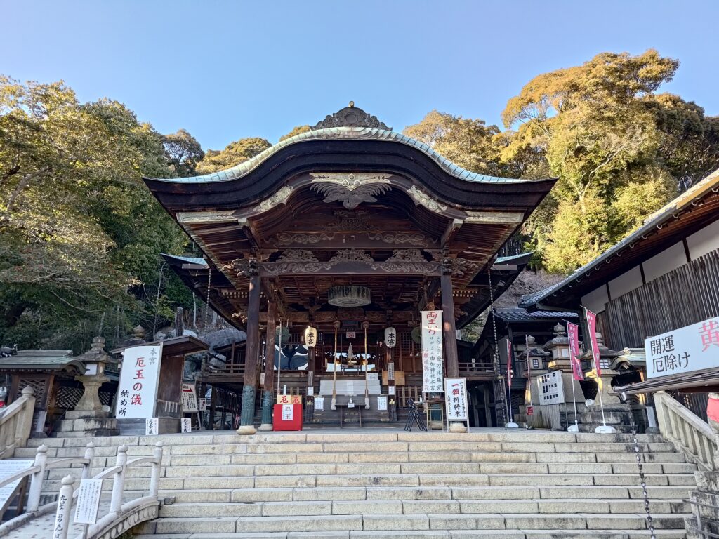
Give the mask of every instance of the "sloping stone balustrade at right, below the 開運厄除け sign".
[{"label": "sloping stone balustrade at right, below the \u958b\u904b\u5384\u9664\u3051 sign", "polygon": [[654,405],[664,438],[700,469],[715,469],[718,441],[712,428],[664,391],[654,394]]}]

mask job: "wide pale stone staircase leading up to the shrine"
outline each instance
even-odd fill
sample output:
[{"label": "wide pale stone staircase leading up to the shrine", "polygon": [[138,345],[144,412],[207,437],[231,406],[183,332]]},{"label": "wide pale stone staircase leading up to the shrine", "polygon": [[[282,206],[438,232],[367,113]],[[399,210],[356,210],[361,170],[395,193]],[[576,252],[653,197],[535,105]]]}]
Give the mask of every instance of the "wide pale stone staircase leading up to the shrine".
[{"label": "wide pale stone staircase leading up to the shrine", "polygon": [[[160,497],[174,498],[135,539],[649,538],[629,435],[490,429],[454,433],[234,433],[94,438],[100,471],[117,447],[165,444]],[[687,464],[641,435],[657,538],[684,538]],[[50,438],[48,456],[78,456],[89,439]],[[34,447],[16,457],[31,458]],[[44,492],[77,469],[48,472]],[[93,471],[93,474],[95,471]],[[149,468],[127,489],[147,489]],[[110,488],[108,482],[106,488]]]}]

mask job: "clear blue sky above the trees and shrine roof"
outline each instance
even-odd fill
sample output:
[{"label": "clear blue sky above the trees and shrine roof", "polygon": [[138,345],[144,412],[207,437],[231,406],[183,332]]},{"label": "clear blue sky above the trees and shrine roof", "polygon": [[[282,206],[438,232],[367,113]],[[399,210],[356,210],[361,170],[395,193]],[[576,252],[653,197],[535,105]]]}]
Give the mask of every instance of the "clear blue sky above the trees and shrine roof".
[{"label": "clear blue sky above the trees and shrine roof", "polygon": [[499,123],[534,75],[649,47],[719,114],[718,1],[0,0],[0,73],[63,79],[204,148],[270,142],[353,100],[401,130],[431,109]]}]

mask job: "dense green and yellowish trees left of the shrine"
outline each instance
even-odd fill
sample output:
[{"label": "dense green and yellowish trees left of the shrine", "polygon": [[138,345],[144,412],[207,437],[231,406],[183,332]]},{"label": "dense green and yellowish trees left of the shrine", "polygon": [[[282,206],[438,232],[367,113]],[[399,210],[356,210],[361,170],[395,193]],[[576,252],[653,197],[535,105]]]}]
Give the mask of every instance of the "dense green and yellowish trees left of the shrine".
[{"label": "dense green and yellowish trees left of the shrine", "polygon": [[142,183],[173,175],[163,144],[121,103],[0,78],[0,341],[80,350],[104,315],[147,316],[185,243]]}]

